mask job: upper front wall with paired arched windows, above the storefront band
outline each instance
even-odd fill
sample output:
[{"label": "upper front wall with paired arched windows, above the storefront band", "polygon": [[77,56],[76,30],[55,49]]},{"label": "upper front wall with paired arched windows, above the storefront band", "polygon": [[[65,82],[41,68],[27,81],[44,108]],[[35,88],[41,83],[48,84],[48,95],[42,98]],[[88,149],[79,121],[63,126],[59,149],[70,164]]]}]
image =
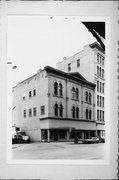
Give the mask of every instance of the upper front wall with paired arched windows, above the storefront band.
[{"label": "upper front wall with paired arched windows, above the storefront band", "polygon": [[[67,77],[58,76],[55,74],[48,75],[49,80],[49,117],[54,118],[70,118],[72,117],[72,109],[73,106],[78,108],[79,115],[77,119],[86,119],[86,109],[91,110],[92,118],[94,120],[94,87],[90,85],[83,84],[80,80],[71,80]],[[58,95],[54,94],[54,84],[57,82],[58,84]],[[62,84],[62,96],[59,95],[59,84]],[[78,90],[78,98],[75,98],[72,92],[72,88]],[[88,103],[85,101],[86,99],[86,91],[91,94],[91,102]],[[59,114],[55,116],[55,104],[58,104],[58,108],[60,104],[63,106],[63,116],[61,117]]]}]

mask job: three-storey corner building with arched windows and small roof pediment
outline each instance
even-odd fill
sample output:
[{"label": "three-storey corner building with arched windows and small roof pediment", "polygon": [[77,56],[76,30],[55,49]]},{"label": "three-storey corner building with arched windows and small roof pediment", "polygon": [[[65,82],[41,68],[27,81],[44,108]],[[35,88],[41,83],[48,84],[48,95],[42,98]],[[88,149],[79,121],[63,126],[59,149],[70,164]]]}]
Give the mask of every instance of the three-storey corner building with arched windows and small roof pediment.
[{"label": "three-storey corner building with arched windows and small roof pediment", "polygon": [[96,135],[95,84],[50,66],[13,88],[13,125],[31,141],[69,141]]}]

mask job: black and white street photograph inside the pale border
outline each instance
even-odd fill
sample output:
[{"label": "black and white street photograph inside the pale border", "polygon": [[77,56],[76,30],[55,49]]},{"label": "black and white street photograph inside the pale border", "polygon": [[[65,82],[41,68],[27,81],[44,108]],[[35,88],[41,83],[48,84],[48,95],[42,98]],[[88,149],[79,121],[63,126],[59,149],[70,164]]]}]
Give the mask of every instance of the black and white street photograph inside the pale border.
[{"label": "black and white street photograph inside the pale border", "polygon": [[105,158],[105,24],[8,17],[13,160]]}]

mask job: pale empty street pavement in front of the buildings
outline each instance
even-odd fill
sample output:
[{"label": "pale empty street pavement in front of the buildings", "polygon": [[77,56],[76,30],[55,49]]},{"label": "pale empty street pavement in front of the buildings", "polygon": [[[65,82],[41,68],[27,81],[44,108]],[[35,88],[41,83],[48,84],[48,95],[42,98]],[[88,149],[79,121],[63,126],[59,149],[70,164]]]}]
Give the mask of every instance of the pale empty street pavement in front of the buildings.
[{"label": "pale empty street pavement in front of the buildings", "polygon": [[73,142],[15,144],[12,158],[17,159],[85,159],[104,158],[105,143],[74,144]]}]

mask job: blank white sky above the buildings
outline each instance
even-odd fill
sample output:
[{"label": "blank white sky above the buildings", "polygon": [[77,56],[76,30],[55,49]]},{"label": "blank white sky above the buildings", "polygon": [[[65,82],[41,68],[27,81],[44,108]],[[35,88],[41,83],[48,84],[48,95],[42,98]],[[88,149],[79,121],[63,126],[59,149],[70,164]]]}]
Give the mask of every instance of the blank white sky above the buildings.
[{"label": "blank white sky above the buildings", "polygon": [[83,50],[96,39],[78,16],[8,16],[7,62],[12,86],[49,65],[56,67],[63,57]]}]

